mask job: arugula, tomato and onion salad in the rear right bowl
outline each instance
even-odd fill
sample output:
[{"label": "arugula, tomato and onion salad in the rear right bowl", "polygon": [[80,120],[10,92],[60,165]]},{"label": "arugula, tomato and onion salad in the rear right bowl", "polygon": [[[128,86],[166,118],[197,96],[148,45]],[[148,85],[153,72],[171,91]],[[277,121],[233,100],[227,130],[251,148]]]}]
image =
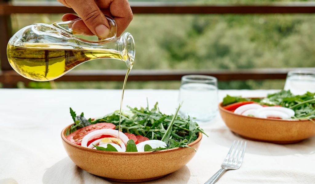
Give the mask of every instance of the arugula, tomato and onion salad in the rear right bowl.
[{"label": "arugula, tomato and onion salad in the rear right bowl", "polygon": [[223,108],[243,116],[276,119],[308,119],[315,123],[315,93],[293,95],[289,90],[268,94],[266,98],[226,95]]}]

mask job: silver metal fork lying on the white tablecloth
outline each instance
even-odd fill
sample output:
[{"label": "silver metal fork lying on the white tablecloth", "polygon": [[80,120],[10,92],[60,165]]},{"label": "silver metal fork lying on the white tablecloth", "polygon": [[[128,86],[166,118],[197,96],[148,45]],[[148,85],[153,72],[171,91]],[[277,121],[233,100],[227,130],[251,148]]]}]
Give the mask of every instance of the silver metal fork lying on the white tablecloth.
[{"label": "silver metal fork lying on the white tablecloth", "polygon": [[[215,181],[219,179],[219,177],[224,173],[226,170],[234,170],[239,169],[242,165],[244,154],[245,154],[245,148],[246,148],[246,141],[243,145],[243,141],[241,141],[241,144],[239,144],[239,140],[236,143],[236,140],[233,141],[233,144],[227,153],[225,159],[223,160],[223,163],[221,164],[221,169],[215,173],[207,182],[204,184],[213,184]],[[240,153],[242,153],[240,155]]]}]

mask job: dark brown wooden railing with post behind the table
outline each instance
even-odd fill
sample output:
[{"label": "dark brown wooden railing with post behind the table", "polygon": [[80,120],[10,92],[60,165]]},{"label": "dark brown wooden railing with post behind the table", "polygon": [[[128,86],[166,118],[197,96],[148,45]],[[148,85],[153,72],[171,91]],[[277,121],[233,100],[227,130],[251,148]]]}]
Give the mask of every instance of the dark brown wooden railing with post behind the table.
[{"label": "dark brown wooden railing with post behind the table", "polygon": [[[12,4],[0,0],[0,83],[3,87],[15,87],[18,81],[29,82],[12,70],[6,56],[6,47],[11,37],[11,14],[60,14],[74,13],[72,9],[58,3],[19,3]],[[315,13],[314,3],[285,3],[274,5],[187,5],[163,3],[133,3],[134,14],[312,14]],[[292,69],[292,68],[291,68]],[[248,70],[215,70],[215,71],[132,71],[128,80],[180,80],[186,74],[213,75],[219,80],[265,80],[284,79],[289,69],[248,69]],[[308,68],[314,70],[315,68]],[[72,71],[56,81],[122,81],[125,71]]]}]

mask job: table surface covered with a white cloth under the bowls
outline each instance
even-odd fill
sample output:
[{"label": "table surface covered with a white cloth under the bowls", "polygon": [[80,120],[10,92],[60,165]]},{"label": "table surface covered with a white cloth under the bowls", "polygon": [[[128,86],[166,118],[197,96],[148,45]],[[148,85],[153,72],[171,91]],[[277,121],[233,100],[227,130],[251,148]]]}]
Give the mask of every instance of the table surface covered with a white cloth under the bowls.
[{"label": "table surface covered with a white cloth under the bowls", "polygon": [[[274,90],[221,90],[230,95],[265,96]],[[60,131],[72,122],[69,107],[98,117],[119,108],[121,90],[0,89],[0,184],[114,183],[78,168],[64,150]],[[150,106],[172,114],[178,90],[126,90],[124,106]],[[220,169],[232,141],[243,140],[218,115],[201,123],[203,136],[195,157],[180,170],[147,183],[204,183]],[[315,183],[315,137],[276,145],[247,140],[243,165],[217,183]]]}]

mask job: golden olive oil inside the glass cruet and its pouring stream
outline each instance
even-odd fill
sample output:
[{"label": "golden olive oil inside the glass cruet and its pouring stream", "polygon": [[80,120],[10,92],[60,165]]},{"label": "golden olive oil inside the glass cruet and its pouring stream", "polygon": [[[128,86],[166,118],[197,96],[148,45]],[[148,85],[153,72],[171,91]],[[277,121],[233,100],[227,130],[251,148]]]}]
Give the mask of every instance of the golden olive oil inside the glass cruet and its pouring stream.
[{"label": "golden olive oil inside the glass cruet and its pouring stream", "polygon": [[[59,45],[38,43],[29,43],[25,47],[16,47],[12,45],[8,45],[8,47],[7,56],[11,66],[20,75],[36,81],[49,81],[57,79],[73,69],[75,66],[96,58],[126,60],[126,58],[123,58],[123,56],[121,56],[116,50],[108,49],[64,49]],[[119,131],[123,106],[123,94],[128,75],[133,66],[133,61],[130,62],[130,67],[127,70],[123,82],[119,111]]]}]

